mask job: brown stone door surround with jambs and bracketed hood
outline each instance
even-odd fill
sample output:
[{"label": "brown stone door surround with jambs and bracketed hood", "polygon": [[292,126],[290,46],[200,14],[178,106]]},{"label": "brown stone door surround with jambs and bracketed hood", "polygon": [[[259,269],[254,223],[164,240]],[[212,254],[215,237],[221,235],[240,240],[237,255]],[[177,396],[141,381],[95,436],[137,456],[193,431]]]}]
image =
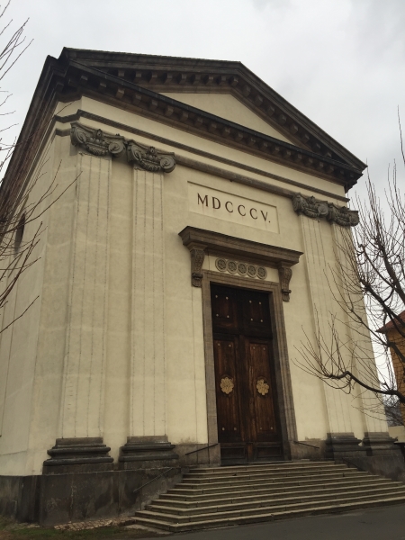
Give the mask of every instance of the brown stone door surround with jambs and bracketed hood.
[{"label": "brown stone door surround with jambs and bracketed hood", "polygon": [[[246,238],[229,236],[207,229],[187,226],[179,233],[184,247],[190,251],[191,284],[202,288],[202,324],[204,335],[205,382],[207,398],[208,454],[210,464],[220,464],[218,446],[217,403],[215,367],[213,356],[211,283],[241,287],[269,293],[270,317],[273,331],[273,356],[275,358],[275,385],[280,415],[284,459],[291,459],[293,441],[297,440],[297,427],[293,405],[293,385],[284,325],[283,302],[290,302],[292,266],[296,265],[301,251],[286,247],[262,244]],[[202,270],[206,255],[232,257],[247,264],[257,264],[278,269],[280,283],[251,279],[239,275]],[[216,446],[215,446],[216,445]]]}]

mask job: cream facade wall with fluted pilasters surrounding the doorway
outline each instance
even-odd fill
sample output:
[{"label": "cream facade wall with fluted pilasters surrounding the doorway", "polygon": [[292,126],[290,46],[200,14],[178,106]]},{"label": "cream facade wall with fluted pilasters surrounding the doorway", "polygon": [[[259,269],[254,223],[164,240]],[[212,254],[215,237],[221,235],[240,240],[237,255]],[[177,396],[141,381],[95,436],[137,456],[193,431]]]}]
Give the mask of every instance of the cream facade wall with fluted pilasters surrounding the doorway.
[{"label": "cream facade wall with fluted pilasters surrounding the doorway", "polygon": [[[62,114],[76,108],[235,163],[121,131],[143,144],[242,175],[247,175],[243,164],[255,166],[258,172],[248,173],[251,177],[284,185],[259,171],[284,175],[306,184],[302,193],[311,193],[313,185],[344,195],[341,186],[325,179],[88,98]],[[372,430],[350,396],[325,388],[294,363],[304,331],[315,328],[314,306],[326,320],[333,304],[325,277],[328,265],[335,265],[328,222],[296,215],[289,198],[184,166],[162,176],[133,170],[125,156],[89,157],[67,136],[55,137],[49,157],[31,198],[46,189],[60,161],[58,190],[77,180],[43,216],[47,228],[37,249],[40,260],[19,280],[4,311],[5,325],[40,295],[0,338],[2,474],[40,473],[57,437],[103,437],[114,458],[128,436],[166,434],[174,444],[207,442],[202,297],[201,289],[191,286],[190,254],[178,237],[186,226],[304,252],[293,266],[291,301],[283,304],[298,437],[325,438],[332,430],[354,431],[361,438]],[[260,229],[246,226],[242,216],[225,220],[193,211],[190,182],[275,207],[276,227]],[[34,226],[27,226],[27,235]],[[206,264],[212,269],[210,259]],[[274,269],[268,279],[278,279]],[[386,427],[382,423],[373,430]]]}]

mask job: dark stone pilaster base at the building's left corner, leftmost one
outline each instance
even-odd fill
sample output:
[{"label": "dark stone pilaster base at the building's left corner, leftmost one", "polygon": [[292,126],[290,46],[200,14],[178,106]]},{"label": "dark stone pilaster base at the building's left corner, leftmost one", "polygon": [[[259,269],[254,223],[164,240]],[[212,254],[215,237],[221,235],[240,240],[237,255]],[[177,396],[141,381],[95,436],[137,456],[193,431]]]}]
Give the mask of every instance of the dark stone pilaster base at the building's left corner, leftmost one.
[{"label": "dark stone pilaster base at the building's left corner, leftmost one", "polygon": [[111,448],[102,437],[57,439],[48,450],[50,458],[43,462],[42,474],[93,473],[112,469]]}]

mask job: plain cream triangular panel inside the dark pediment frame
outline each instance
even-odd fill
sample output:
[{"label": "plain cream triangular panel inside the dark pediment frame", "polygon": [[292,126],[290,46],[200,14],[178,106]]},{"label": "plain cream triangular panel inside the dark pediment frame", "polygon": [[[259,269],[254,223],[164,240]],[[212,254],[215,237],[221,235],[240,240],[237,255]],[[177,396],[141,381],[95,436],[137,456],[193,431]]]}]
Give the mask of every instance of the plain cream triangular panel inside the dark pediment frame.
[{"label": "plain cream triangular panel inside the dark pediment frame", "polygon": [[[197,109],[201,109],[202,111],[215,114],[220,118],[245,126],[250,130],[265,133],[275,139],[295,144],[293,138],[288,139],[285,137],[280,130],[276,130],[274,126],[258,116],[255,112],[252,112],[247,108],[246,104],[240,102],[231,94],[203,94],[201,92],[164,92],[161,94],[171,97],[179,102],[186,103],[187,105],[191,105],[192,107],[196,107]],[[300,147],[303,148],[302,145],[300,145]]]}]

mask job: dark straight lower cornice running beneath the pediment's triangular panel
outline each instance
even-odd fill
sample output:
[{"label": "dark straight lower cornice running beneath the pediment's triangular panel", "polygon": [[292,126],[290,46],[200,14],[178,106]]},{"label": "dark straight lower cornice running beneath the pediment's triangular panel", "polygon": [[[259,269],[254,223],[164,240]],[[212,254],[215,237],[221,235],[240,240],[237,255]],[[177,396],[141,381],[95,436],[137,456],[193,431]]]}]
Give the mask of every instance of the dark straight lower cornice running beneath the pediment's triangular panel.
[{"label": "dark straight lower cornice running beneath the pediment's triangular panel", "polygon": [[[108,75],[94,67],[72,61],[70,69],[75,75],[68,77],[68,85],[64,86],[63,93],[59,95],[61,100],[71,101],[85,94],[98,101],[132,110],[153,120],[193,132],[199,137],[215,140],[310,175],[327,178],[329,181],[344,185],[346,190],[356,184],[362,175],[362,168],[347,163],[338,156],[332,156],[328,151],[325,155],[321,155],[294,146],[210,112],[157,94],[125,79]],[[100,90],[100,82],[103,83],[103,91]]]}]

